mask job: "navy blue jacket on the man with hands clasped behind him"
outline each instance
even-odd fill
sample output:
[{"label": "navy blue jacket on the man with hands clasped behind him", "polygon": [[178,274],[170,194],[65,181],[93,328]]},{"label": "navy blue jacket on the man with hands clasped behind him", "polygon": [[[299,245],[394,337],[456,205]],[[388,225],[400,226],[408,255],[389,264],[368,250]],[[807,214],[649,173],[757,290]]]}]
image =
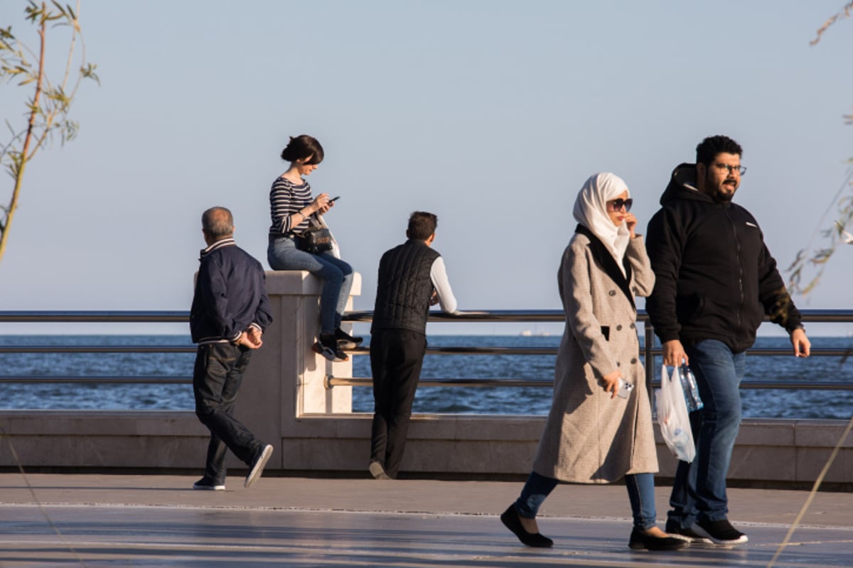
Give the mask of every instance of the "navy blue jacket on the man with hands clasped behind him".
[{"label": "navy blue jacket on the man with hands clasped behind him", "polygon": [[202,250],[200,262],[189,311],[193,341],[236,341],[252,324],[266,330],[272,313],[261,263],[233,238]]}]

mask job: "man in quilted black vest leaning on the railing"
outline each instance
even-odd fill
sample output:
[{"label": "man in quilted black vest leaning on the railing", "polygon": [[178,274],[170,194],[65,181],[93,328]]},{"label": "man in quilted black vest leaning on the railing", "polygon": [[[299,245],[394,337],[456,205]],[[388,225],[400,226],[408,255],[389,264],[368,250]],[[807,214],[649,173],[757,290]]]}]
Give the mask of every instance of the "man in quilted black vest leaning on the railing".
[{"label": "man in quilted black vest leaning on the railing", "polygon": [[369,471],[376,479],[394,479],[403,460],[409,417],[421,364],[427,352],[427,313],[441,304],[456,312],[456,298],[444,260],[432,250],[438,217],[415,211],[405,243],[386,251],[379,263],[370,368],[374,381],[374,419]]}]

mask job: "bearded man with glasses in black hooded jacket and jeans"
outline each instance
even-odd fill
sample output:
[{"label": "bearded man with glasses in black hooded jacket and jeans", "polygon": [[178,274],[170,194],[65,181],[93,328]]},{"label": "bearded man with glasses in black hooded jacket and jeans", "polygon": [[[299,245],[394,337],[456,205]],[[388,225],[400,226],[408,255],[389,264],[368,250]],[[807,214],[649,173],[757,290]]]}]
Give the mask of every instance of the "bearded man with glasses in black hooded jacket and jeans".
[{"label": "bearded man with glasses in black hooded jacket and jeans", "polygon": [[672,172],[646,238],[656,278],[646,310],[664,364],[689,364],[705,404],[690,416],[696,457],[678,462],[666,531],[718,544],[747,541],[728,522],[726,496],[746,349],[764,315],[788,331],[796,357],[810,348],[757,221],[732,203],[742,153],[727,136],[705,138],[696,164]]}]

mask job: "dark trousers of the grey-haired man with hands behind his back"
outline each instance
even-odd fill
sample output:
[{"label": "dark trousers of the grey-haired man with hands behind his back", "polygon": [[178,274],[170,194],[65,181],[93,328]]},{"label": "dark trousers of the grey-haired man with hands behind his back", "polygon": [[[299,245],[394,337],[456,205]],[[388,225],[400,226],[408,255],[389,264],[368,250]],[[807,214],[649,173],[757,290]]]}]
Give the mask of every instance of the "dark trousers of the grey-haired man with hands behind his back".
[{"label": "dark trousers of the grey-haired man with hands behind his back", "polygon": [[205,477],[217,483],[225,483],[226,449],[251,465],[263,445],[234,417],[237,393],[251,358],[251,349],[231,343],[200,345],[195,353],[195,416],[211,431]]}]

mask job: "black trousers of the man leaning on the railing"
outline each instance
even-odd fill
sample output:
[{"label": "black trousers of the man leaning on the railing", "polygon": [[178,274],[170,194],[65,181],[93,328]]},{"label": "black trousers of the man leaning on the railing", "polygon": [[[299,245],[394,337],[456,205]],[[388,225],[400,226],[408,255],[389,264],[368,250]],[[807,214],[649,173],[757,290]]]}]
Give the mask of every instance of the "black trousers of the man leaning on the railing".
[{"label": "black trousers of the man leaning on the railing", "polygon": [[427,353],[427,336],[417,331],[380,330],[370,336],[370,369],[374,382],[374,420],[370,461],[397,477],[415,389]]}]

